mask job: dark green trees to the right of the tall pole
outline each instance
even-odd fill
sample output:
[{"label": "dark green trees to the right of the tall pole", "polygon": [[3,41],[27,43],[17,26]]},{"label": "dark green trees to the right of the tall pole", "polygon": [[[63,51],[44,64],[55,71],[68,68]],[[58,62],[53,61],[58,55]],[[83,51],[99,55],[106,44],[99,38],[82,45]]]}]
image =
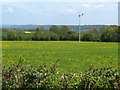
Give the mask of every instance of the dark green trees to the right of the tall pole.
[{"label": "dark green trees to the right of the tall pole", "polygon": [[119,42],[117,26],[109,26],[107,29],[103,26],[100,31],[96,29],[83,33],[82,41],[102,41],[102,42]]}]

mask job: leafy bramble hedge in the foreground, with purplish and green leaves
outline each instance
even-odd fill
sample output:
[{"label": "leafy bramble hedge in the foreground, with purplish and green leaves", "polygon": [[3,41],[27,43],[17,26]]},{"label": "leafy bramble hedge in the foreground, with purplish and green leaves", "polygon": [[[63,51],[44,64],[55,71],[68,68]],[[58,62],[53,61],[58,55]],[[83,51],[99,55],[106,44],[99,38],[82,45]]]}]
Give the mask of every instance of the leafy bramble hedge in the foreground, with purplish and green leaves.
[{"label": "leafy bramble hedge in the foreground, with purplish and green leaves", "polygon": [[85,73],[63,73],[58,71],[58,61],[49,67],[43,63],[38,67],[23,66],[20,57],[17,64],[7,64],[2,69],[2,88],[39,89],[120,89],[117,67],[95,68],[93,65]]}]

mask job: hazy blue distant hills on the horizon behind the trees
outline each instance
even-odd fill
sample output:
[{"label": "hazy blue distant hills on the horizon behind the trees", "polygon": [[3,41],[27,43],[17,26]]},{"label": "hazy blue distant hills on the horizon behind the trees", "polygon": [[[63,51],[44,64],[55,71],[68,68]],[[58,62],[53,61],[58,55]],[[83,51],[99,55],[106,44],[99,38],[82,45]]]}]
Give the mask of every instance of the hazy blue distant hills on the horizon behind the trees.
[{"label": "hazy blue distant hills on the horizon behind the trees", "polygon": [[[45,28],[45,30],[49,30],[49,28],[52,25],[2,25],[2,28],[4,29],[15,29],[15,30],[19,30],[19,29],[35,29],[37,27],[41,27],[43,26]],[[58,27],[61,27],[63,25],[57,25]],[[66,25],[69,27],[70,30],[72,31],[79,31],[79,26],[78,25]],[[102,26],[105,26],[105,28],[108,27],[108,25],[81,25],[81,31],[88,31],[91,29],[97,29],[99,30]]]}]

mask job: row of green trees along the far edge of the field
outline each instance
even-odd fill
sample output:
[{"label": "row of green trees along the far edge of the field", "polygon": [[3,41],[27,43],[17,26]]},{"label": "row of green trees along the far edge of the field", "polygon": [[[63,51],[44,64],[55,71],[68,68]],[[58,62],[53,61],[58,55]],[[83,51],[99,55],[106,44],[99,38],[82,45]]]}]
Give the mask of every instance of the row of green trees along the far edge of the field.
[{"label": "row of green trees along the far edge of the field", "polygon": [[[81,32],[80,37],[82,41],[119,42],[119,29],[118,26],[109,26],[107,29],[102,26],[100,30],[93,29]],[[6,32],[6,34],[2,35],[3,41],[77,41],[79,39],[79,33],[71,31],[65,25],[60,28],[53,25],[49,30],[38,27],[30,34],[25,33],[24,30],[7,30]]]}]

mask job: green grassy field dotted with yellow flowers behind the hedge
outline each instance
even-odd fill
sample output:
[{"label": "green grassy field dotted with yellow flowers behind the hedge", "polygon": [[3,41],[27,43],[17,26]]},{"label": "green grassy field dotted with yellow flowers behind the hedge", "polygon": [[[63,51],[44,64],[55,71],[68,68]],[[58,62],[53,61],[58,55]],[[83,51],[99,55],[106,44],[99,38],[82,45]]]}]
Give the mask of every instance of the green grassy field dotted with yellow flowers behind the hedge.
[{"label": "green grassy field dotted with yellow flowers behind the hedge", "polygon": [[17,62],[22,56],[24,65],[52,64],[59,59],[62,72],[84,72],[95,67],[118,64],[118,43],[76,41],[3,41],[2,63]]}]

